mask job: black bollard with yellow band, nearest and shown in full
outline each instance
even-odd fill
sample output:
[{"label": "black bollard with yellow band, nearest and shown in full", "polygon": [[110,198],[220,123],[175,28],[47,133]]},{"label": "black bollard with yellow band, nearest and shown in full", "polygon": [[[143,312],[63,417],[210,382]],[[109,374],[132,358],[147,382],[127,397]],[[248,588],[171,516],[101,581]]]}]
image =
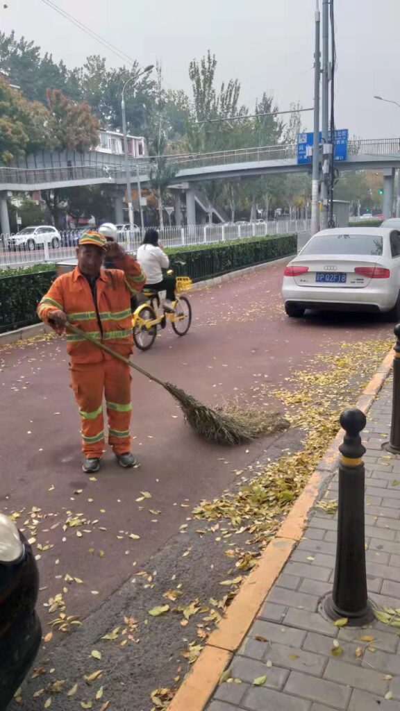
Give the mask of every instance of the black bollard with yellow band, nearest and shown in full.
[{"label": "black bollard with yellow band, nearest and shown in full", "polygon": [[340,445],[337,547],[333,592],[325,600],[325,612],[334,620],[347,617],[348,625],[361,626],[374,619],[368,601],[365,567],[364,480],[359,433],[367,424],[361,410],[344,410],[340,416],[344,434]]}]

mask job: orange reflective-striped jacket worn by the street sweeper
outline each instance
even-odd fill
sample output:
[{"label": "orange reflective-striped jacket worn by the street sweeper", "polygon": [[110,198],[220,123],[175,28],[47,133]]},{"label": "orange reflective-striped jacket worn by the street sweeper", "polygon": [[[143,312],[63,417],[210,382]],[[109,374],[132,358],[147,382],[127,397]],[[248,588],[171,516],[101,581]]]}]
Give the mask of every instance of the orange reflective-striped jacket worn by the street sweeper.
[{"label": "orange reflective-striped jacket worn by the street sweeper", "polygon": [[[47,322],[51,312],[60,309],[71,324],[104,341],[114,351],[129,355],[133,350],[130,299],[144,287],[146,277],[133,257],[125,255],[114,261],[117,269],[100,270],[96,299],[88,279],[78,267],[61,274],[41,299],[38,316]],[[75,363],[98,363],[103,358],[111,358],[84,338],[68,333],[68,329],[67,351]]]}]

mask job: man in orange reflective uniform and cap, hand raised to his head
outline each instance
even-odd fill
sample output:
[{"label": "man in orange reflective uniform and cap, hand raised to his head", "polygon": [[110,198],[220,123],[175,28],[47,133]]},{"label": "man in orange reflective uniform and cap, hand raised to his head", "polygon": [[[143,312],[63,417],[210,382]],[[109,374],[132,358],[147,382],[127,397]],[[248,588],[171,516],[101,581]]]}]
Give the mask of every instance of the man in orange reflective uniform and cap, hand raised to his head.
[{"label": "man in orange reflective uniform and cap, hand raised to his head", "polygon": [[[66,331],[70,387],[81,417],[83,471],[92,474],[100,469],[105,445],[103,393],[108,442],[120,466],[135,465],[130,451],[130,368],[65,327],[70,322],[128,357],[133,346],[130,299],[144,287],[146,277],[133,257],[100,232],[84,232],[77,255],[78,266],[51,284],[38,305],[38,316],[56,333]],[[104,257],[113,260],[116,269],[103,269]]]}]

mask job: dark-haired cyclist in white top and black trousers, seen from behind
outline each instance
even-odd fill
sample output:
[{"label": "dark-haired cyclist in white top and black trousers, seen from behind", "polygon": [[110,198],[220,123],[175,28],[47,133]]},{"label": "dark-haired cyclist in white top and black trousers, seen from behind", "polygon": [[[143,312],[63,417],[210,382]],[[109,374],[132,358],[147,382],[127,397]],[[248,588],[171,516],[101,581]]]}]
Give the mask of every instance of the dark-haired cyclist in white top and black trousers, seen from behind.
[{"label": "dark-haired cyclist in white top and black trousers, seen from behind", "polygon": [[164,310],[174,312],[172,301],[175,300],[175,289],[177,277],[174,274],[167,274],[164,277],[162,269],[168,269],[169,258],[164,252],[162,242],[159,241],[159,233],[154,228],[149,228],[144,234],[144,240],[137,250],[137,261],[146,274],[146,286],[154,289],[155,292],[167,292],[164,299]]}]

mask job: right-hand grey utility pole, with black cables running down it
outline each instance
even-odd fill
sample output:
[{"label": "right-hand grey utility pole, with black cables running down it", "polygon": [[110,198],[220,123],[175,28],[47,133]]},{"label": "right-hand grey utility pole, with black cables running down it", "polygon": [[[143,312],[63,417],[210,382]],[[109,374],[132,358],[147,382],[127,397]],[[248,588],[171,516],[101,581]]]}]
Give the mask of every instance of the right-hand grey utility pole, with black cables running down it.
[{"label": "right-hand grey utility pole, with black cables running down it", "polygon": [[322,0],[322,183],[321,230],[327,228],[328,185],[330,175],[329,129],[329,0]]}]

